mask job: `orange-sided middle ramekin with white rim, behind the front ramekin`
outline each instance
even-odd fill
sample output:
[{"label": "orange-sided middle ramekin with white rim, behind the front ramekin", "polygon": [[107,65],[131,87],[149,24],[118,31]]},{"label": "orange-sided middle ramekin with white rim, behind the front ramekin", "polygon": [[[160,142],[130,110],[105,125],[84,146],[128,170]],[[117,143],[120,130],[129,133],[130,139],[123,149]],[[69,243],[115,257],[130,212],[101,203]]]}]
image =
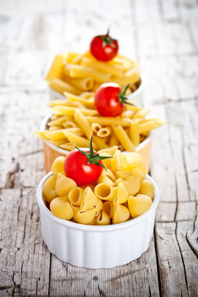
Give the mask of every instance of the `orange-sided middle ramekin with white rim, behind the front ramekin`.
[{"label": "orange-sided middle ramekin with white rim, behind the front ramekin", "polygon": [[[41,131],[47,129],[47,123],[51,113],[48,114],[41,123]],[[150,169],[150,152],[151,152],[151,143],[152,143],[152,132],[148,135],[148,138],[143,141],[137,148],[136,151],[142,155],[143,164],[145,165],[147,173]],[[59,156],[66,156],[69,153],[69,150],[58,148],[53,144],[49,143],[49,141],[44,140],[44,157],[45,157],[45,167],[46,172],[48,173],[51,170],[51,165],[55,158]],[[122,151],[123,154],[127,153],[127,151]]]}]

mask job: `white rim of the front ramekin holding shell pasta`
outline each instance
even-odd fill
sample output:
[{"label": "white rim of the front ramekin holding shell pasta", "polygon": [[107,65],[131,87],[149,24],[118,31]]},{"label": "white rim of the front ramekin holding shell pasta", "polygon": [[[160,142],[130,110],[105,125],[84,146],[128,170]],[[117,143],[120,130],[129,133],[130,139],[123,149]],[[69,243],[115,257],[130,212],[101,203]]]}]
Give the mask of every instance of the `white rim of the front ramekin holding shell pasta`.
[{"label": "white rim of the front ramekin holding shell pasta", "polygon": [[152,183],[152,185],[154,186],[154,198],[153,198],[153,202],[151,207],[143,214],[141,214],[140,216],[123,222],[123,223],[119,223],[119,224],[115,224],[115,225],[105,225],[105,226],[92,226],[92,225],[84,225],[84,224],[78,224],[75,222],[70,222],[68,220],[64,220],[64,219],[60,219],[58,217],[56,217],[46,206],[45,202],[44,202],[44,198],[43,198],[43,186],[44,183],[46,182],[46,180],[52,175],[52,172],[49,172],[48,174],[46,174],[43,179],[40,181],[38,188],[37,188],[37,203],[39,205],[40,211],[45,213],[52,221],[55,221],[56,223],[63,225],[65,227],[68,228],[72,228],[72,229],[76,229],[76,230],[80,230],[80,231],[88,231],[88,232],[113,232],[116,230],[120,230],[120,229],[125,229],[125,228],[129,228],[132,227],[133,225],[136,225],[142,221],[144,221],[157,207],[158,203],[159,203],[159,190],[158,187],[156,185],[156,183],[154,182],[154,180],[148,175],[146,174],[146,179],[148,181],[150,181]]}]

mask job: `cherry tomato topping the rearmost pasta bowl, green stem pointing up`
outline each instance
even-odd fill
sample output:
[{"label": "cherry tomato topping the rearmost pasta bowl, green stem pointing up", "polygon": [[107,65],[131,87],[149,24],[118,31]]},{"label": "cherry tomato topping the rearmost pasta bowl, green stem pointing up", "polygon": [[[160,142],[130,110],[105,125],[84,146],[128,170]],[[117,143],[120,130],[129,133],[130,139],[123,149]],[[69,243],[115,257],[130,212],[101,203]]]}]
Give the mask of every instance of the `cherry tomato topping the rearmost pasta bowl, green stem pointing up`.
[{"label": "cherry tomato topping the rearmost pasta bowl, green stem pointing up", "polygon": [[106,35],[96,36],[91,41],[90,51],[99,61],[112,60],[118,52],[117,40],[112,39],[108,34],[109,30]]}]

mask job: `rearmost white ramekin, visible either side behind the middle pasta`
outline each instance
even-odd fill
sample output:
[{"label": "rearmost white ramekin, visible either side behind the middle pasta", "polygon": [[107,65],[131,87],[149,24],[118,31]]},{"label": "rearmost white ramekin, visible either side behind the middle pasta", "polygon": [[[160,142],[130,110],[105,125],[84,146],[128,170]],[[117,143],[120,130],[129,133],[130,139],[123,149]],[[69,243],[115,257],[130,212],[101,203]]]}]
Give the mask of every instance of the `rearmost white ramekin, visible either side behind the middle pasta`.
[{"label": "rearmost white ramekin, visible either side behind the middle pasta", "polygon": [[[50,98],[50,100],[66,99],[64,95],[54,91],[50,87],[48,87],[48,89],[49,89],[49,98]],[[145,75],[141,75],[141,84],[140,84],[139,88],[135,92],[130,94],[128,96],[128,99],[134,101],[137,105],[141,106],[142,105],[142,100],[143,100],[144,90],[145,90]]]}]

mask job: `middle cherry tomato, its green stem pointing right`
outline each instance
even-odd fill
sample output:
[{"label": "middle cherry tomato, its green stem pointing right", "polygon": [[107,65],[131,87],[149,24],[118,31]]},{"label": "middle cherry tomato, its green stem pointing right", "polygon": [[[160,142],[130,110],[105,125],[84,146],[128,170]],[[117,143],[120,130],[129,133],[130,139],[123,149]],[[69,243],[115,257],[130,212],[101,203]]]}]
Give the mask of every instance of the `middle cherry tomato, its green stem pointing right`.
[{"label": "middle cherry tomato, its green stem pointing right", "polygon": [[95,106],[102,116],[117,116],[125,110],[125,104],[133,105],[125,97],[129,85],[121,88],[115,83],[101,85],[95,94]]}]

